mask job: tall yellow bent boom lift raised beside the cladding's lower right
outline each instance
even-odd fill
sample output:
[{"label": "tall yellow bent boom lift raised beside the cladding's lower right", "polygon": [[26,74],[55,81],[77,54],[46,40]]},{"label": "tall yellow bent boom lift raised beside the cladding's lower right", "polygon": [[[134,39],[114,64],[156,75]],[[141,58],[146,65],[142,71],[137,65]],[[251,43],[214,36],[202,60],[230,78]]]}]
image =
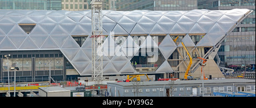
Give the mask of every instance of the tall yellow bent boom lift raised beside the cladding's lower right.
[{"label": "tall yellow bent boom lift raised beside the cladding's lower right", "polygon": [[[193,79],[193,76],[188,75],[188,72],[189,72],[190,67],[191,67],[191,64],[192,64],[192,57],[191,57],[191,55],[189,54],[189,52],[188,52],[188,50],[187,50],[187,47],[184,45],[183,41],[179,38],[179,36],[177,36],[177,37],[174,39],[174,42],[176,43],[176,42],[177,42],[177,39],[180,40],[180,42],[181,42],[183,48],[185,49],[185,51],[187,52],[187,55],[188,55],[188,57],[189,57],[189,64],[188,64],[187,70],[185,71],[184,79],[185,79],[185,80],[191,80],[191,79]],[[184,60],[184,61],[185,61],[185,60]]]}]

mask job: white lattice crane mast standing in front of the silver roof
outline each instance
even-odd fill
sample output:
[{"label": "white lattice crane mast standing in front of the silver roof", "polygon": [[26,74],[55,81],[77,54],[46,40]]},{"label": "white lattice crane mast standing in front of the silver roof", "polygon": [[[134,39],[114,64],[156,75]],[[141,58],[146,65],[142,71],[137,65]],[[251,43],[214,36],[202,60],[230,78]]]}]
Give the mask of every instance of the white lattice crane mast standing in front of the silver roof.
[{"label": "white lattice crane mast standing in front of the silver roof", "polygon": [[102,5],[103,0],[93,0],[92,5],[92,80],[103,80],[102,75]]}]

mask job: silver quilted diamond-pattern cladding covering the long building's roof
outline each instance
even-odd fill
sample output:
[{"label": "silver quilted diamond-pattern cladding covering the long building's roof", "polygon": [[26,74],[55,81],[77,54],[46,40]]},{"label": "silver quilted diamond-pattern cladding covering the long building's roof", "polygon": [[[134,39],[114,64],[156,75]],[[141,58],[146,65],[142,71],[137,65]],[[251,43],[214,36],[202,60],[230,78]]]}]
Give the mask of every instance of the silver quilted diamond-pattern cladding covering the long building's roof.
[{"label": "silver quilted diamond-pattern cladding covering the long building's roof", "polygon": [[[103,34],[114,31],[117,34],[175,34],[175,33],[206,33],[204,38],[196,46],[214,46],[224,38],[225,34],[237,23],[237,20],[249,13],[247,9],[233,10],[191,10],[191,11],[110,11],[103,12]],[[91,34],[91,11],[51,11],[51,10],[0,10],[0,50],[56,50],[67,57],[80,75],[91,74],[91,38],[87,38],[84,45],[80,47],[72,35]],[[35,23],[36,27],[30,34],[26,34],[19,23]],[[133,36],[131,35],[131,36]],[[169,37],[169,35],[167,35]],[[142,37],[142,36],[141,36]],[[139,37],[139,38],[141,38]],[[148,36],[147,36],[148,37]],[[15,38],[15,39],[14,39]],[[24,39],[25,38],[25,39]],[[130,40],[127,38],[126,40]],[[19,42],[14,42],[19,40]],[[131,38],[133,40],[133,38]],[[135,39],[134,39],[135,40]],[[154,42],[152,38],[146,41]],[[171,46],[170,38],[164,38],[159,45],[159,51],[166,58],[177,46]],[[142,41],[142,47],[147,46]],[[166,41],[166,42],[165,42]],[[189,36],[184,38],[186,46],[195,46]],[[114,42],[114,41],[113,41]],[[135,41],[133,41],[134,43]],[[136,43],[136,42],[135,42]],[[151,47],[158,47],[153,43]],[[136,44],[137,45],[137,44]],[[139,47],[127,47],[124,51],[123,45],[118,46],[118,54],[126,54],[133,51],[134,55]],[[114,50],[115,47],[111,47]],[[120,51],[121,49],[121,51]],[[168,51],[166,51],[168,50]],[[114,51],[115,52],[115,51]],[[78,54],[79,53],[79,54]],[[79,59],[84,55],[84,59]],[[85,56],[86,55],[86,56]],[[106,54],[105,54],[106,55]],[[127,56],[130,59],[133,56]],[[73,60],[74,59],[74,60]],[[112,60],[109,63],[110,59]],[[108,74],[136,72],[129,60],[118,57],[104,57],[104,67]],[[75,62],[72,62],[75,61]],[[113,61],[118,60],[118,61]],[[118,63],[119,61],[123,63]],[[125,63],[126,62],[126,63]],[[79,64],[81,63],[81,64]],[[165,62],[164,62],[165,63]],[[118,66],[118,65],[121,66]],[[83,66],[82,68],[79,68]],[[166,67],[164,67],[166,66]],[[169,68],[162,65],[163,68]],[[112,70],[114,68],[114,70]],[[171,69],[171,68],[170,68]],[[160,71],[162,70],[159,67]]]}]

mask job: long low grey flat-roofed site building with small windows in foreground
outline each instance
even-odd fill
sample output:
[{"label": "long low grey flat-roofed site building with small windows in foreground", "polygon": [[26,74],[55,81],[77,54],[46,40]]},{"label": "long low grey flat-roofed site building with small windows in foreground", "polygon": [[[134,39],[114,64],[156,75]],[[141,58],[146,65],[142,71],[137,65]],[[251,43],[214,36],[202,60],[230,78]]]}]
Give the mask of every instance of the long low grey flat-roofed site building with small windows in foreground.
[{"label": "long low grey flat-roofed site building with small windows in foreground", "polygon": [[246,91],[255,91],[255,80],[225,79],[108,83],[108,93],[111,97],[182,97],[203,96],[203,94],[204,96],[214,96],[214,93],[217,92],[238,93]]}]

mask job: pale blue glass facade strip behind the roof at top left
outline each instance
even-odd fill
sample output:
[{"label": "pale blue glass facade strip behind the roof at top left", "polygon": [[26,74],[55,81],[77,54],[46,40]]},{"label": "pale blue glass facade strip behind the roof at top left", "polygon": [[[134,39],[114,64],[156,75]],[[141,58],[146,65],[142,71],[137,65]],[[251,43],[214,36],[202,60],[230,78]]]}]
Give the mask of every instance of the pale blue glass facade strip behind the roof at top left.
[{"label": "pale blue glass facade strip behind the roof at top left", "polygon": [[61,0],[0,0],[0,9],[61,10]]}]

